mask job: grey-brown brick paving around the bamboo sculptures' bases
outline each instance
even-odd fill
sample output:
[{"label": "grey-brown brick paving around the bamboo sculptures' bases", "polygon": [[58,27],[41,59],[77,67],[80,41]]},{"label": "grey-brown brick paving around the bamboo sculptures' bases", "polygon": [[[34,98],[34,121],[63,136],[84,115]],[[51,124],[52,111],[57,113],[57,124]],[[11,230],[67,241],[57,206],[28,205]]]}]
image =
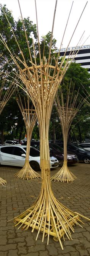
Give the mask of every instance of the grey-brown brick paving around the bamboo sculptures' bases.
[{"label": "grey-brown brick paving around the bamboo sculptures' bases", "polygon": [[[77,176],[73,183],[52,181],[53,192],[65,206],[90,218],[90,164],[79,163],[69,169]],[[8,184],[0,186],[0,256],[90,256],[90,222],[84,220],[83,228],[76,226],[73,240],[63,241],[64,250],[59,242],[50,237],[42,243],[40,233],[31,233],[14,227],[13,221],[6,222],[29,208],[40,193],[41,180],[18,180],[14,173],[16,167],[0,166],[0,177]],[[51,170],[51,176],[59,169]]]}]

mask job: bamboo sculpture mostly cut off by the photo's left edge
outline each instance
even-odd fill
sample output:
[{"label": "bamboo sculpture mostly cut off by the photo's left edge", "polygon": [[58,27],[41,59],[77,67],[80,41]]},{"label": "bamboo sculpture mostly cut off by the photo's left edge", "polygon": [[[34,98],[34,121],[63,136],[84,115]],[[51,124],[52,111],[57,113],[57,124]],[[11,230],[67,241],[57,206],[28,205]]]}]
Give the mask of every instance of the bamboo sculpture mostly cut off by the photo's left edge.
[{"label": "bamboo sculpture mostly cut off by the photo's left edge", "polygon": [[[14,87],[14,81],[13,83],[10,84],[9,87],[6,87],[5,82],[6,82],[6,79],[2,81],[2,85],[0,87],[0,114],[2,113],[6,103],[8,102],[8,100],[10,99],[11,95],[13,94],[13,92],[17,87],[17,86]],[[7,183],[6,180],[3,180],[2,178],[0,178],[0,185],[5,185],[6,183]]]}]

